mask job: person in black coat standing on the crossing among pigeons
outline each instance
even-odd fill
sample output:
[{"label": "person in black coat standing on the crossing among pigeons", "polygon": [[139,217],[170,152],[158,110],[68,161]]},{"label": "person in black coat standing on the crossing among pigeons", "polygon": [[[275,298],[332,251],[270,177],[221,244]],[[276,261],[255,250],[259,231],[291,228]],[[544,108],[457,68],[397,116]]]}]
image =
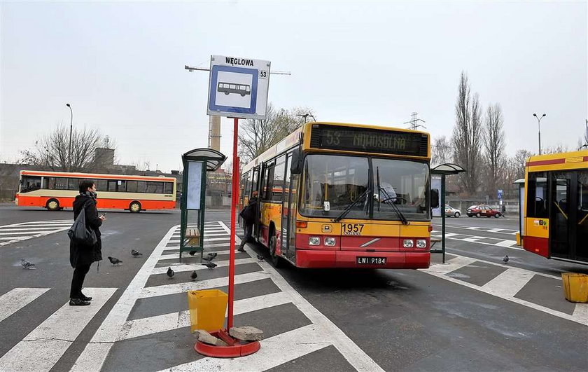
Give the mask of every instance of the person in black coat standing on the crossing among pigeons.
[{"label": "person in black coat standing on the crossing among pigeons", "polygon": [[100,239],[99,227],[102,226],[102,221],[106,218],[102,215],[98,216],[96,197],[94,182],[83,179],[80,182],[80,195],[77,195],[76,200],[73,201],[73,220],[78,218],[78,214],[85,207],[86,225],[94,230],[98,241],[93,246],[69,242],[69,263],[73,268],[69,305],[72,306],[90,305],[92,297],[87,297],[82,293],[84,278],[90,271],[92,262],[102,260],[102,240]]}]

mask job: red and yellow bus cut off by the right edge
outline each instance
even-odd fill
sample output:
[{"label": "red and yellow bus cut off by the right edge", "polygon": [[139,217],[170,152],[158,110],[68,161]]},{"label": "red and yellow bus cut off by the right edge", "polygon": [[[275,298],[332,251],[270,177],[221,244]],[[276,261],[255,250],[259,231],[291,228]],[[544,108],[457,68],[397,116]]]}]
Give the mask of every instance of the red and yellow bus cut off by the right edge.
[{"label": "red and yellow bus cut off by the right edge", "polygon": [[524,249],[588,263],[588,151],[531,156],[524,204]]}]

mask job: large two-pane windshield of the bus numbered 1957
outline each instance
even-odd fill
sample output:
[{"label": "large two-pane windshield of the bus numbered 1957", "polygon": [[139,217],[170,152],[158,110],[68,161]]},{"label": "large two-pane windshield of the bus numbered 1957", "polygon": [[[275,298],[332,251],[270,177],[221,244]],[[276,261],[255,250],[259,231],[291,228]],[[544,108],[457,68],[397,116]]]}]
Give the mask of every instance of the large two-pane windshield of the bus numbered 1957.
[{"label": "large two-pane windshield of the bus numbered 1957", "polygon": [[344,218],[426,221],[428,180],[426,163],[309,155],[300,213],[336,218],[353,205]]}]

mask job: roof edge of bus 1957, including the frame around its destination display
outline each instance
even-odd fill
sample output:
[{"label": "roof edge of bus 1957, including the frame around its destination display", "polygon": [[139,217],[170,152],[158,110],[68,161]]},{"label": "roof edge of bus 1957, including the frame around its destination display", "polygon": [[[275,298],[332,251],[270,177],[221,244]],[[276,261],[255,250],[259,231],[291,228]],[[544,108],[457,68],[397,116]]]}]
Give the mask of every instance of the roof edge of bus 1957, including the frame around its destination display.
[{"label": "roof edge of bus 1957, including the frame around its destination display", "polygon": [[[299,143],[300,135],[302,134],[304,138],[303,150],[309,149],[310,144],[310,132],[312,125],[315,124],[324,124],[324,125],[339,125],[343,127],[353,127],[353,128],[365,128],[365,129],[374,129],[374,130],[394,130],[396,132],[407,132],[407,133],[420,133],[422,135],[429,134],[427,132],[422,132],[420,130],[410,130],[405,128],[393,128],[393,127],[384,127],[382,125],[368,125],[368,124],[354,124],[354,123],[335,123],[330,121],[316,121],[316,122],[309,122],[302,125],[300,128],[295,130],[294,132],[290,133],[282,139],[280,142],[275,144],[274,146],[270,147],[262,153],[257,158],[251,160],[248,164],[244,165],[243,170],[241,172],[245,173],[251,170],[253,167],[259,165],[260,163],[264,162],[265,160],[271,159],[277,154],[281,153],[282,151],[288,150]],[[328,151],[330,153],[361,153],[358,151],[338,151],[338,150],[321,150],[321,149],[313,149],[313,151]],[[396,158],[415,158],[414,156],[402,156],[402,155],[392,155],[392,154],[385,154],[385,153],[370,153],[372,156],[390,156]],[[430,155],[430,154],[429,154]],[[423,157],[417,157],[423,158]]]}]

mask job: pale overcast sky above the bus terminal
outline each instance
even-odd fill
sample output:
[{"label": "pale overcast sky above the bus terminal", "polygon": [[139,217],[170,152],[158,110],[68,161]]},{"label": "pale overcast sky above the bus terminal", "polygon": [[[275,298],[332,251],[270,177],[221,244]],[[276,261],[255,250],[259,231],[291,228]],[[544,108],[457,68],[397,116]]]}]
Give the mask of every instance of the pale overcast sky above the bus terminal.
[{"label": "pale overcast sky above the bus terminal", "polygon": [[[588,117],[586,1],[2,1],[0,161],[59,123],[100,128],[122,164],[179,169],[207,146],[210,55],[272,62],[269,101],[318,120],[451,135],[460,72],[503,107],[507,153],[575,149]],[[232,122],[221,151],[231,156]]]}]

